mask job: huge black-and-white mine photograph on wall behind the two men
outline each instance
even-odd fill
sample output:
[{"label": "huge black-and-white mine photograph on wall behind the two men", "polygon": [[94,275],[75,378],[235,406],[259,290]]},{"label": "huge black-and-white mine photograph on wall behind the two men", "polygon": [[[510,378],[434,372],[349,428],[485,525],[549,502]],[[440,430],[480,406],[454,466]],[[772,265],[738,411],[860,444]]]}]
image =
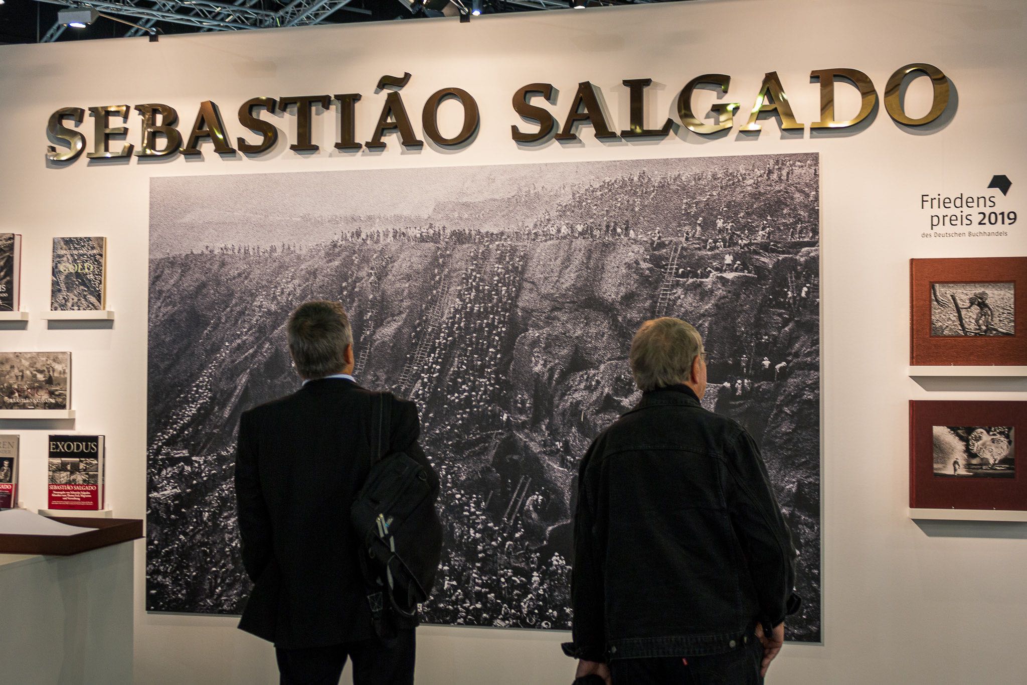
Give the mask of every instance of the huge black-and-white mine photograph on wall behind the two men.
[{"label": "huge black-and-white mine photograph on wall behind the two men", "polygon": [[286,319],[332,299],[442,479],[429,622],[569,627],[578,460],[672,315],[760,445],[800,551],[788,637],[819,641],[819,188],[815,154],[154,179],[147,609],[240,611],[239,414],[299,388]]}]

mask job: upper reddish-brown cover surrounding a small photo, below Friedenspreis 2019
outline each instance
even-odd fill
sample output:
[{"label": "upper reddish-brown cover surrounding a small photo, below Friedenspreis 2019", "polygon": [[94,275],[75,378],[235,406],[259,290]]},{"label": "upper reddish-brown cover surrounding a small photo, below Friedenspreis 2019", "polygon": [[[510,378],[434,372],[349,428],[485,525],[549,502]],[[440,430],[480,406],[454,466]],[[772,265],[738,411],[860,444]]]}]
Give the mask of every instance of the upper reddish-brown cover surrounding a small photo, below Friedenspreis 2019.
[{"label": "upper reddish-brown cover surrounding a small photo, below Friedenspreis 2019", "polygon": [[[944,283],[1013,283],[1013,335],[990,330],[978,335],[969,309],[956,310],[951,295],[933,289]],[[982,290],[984,288],[982,287]],[[953,311],[969,335],[931,335],[931,303]],[[962,303],[960,303],[962,304]],[[965,312],[965,313],[964,313]],[[910,260],[911,366],[1027,365],[1027,257]]]}]

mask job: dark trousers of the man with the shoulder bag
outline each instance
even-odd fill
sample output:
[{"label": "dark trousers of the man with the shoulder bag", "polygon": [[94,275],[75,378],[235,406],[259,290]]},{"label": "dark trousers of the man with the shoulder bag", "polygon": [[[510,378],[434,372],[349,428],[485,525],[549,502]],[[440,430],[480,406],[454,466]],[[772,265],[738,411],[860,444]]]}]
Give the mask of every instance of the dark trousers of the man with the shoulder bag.
[{"label": "dark trousers of the man with the shoulder bag", "polygon": [[353,685],[414,685],[414,631],[390,640],[362,640],[329,647],[275,649],[281,685],[338,685],[353,659]]}]

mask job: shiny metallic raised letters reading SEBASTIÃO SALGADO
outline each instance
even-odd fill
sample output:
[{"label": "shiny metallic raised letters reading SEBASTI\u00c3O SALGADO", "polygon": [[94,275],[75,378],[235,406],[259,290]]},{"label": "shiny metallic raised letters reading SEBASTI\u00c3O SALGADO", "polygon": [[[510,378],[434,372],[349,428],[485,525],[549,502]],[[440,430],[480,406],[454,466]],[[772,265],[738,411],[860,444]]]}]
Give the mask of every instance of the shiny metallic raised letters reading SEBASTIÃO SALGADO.
[{"label": "shiny metallic raised letters reading SEBASTI\u00c3O SALGADO", "polygon": [[[920,118],[908,116],[904,109],[904,86],[917,76],[930,79],[933,100],[930,110]],[[404,148],[417,148],[424,145],[418,138],[415,127],[416,116],[412,117],[408,109],[415,106],[405,102],[401,90],[410,82],[411,75],[382,76],[378,81],[376,96],[378,103],[372,103],[372,98],[364,99],[358,92],[340,94],[288,96],[281,98],[259,97],[245,101],[239,106],[236,125],[245,129],[243,136],[232,137],[225,123],[225,117],[213,101],[199,104],[192,126],[186,131],[180,130],[179,113],[167,105],[148,103],[143,105],[105,105],[89,107],[89,116],[93,119],[92,151],[86,153],[90,159],[112,159],[120,157],[167,157],[175,154],[201,155],[200,145],[210,143],[219,154],[234,155],[242,152],[248,155],[260,155],[269,151],[278,141],[279,129],[261,115],[276,113],[295,116],[294,143],[289,147],[296,153],[316,152],[320,149],[311,140],[311,123],[313,117],[321,116],[333,109],[337,114],[339,127],[335,136],[334,146],[337,150],[354,152],[366,148],[380,151],[386,148],[389,136],[395,136],[396,142]],[[855,69],[819,69],[810,72],[810,81],[820,83],[820,120],[809,124],[811,129],[838,129],[854,126],[864,121],[877,106],[878,96],[870,77]],[[556,108],[558,92],[551,83],[529,83],[519,88],[512,98],[512,113],[520,115],[525,123],[510,126],[510,137],[519,145],[530,146],[548,140],[576,141],[580,124],[589,124],[598,140],[616,139],[660,139],[671,135],[674,120],[668,118],[658,127],[646,127],[645,89],[652,84],[652,79],[636,78],[622,81],[627,87],[630,115],[627,126],[616,130],[613,121],[604,106],[600,88],[589,81],[578,84],[577,90],[567,106],[560,108],[564,113],[558,119],[558,113],[544,106],[534,104],[542,102]],[[860,91],[861,105],[859,113],[851,119],[835,118],[835,84],[847,84]],[[719,91],[718,97],[724,100],[731,84],[731,77],[726,74],[703,74],[689,81],[677,98],[677,114],[681,125],[699,136],[713,136],[730,130],[735,125],[735,113],[740,103],[715,102],[710,110],[697,116],[692,109],[693,94],[696,89]],[[896,122],[906,126],[922,126],[938,119],[950,103],[950,82],[948,77],[937,67],[928,64],[910,64],[898,69],[888,78],[884,87],[884,109]],[[362,100],[364,101],[362,103]],[[463,123],[458,132],[452,137],[440,129],[439,108],[443,102],[454,100],[459,103],[463,112]],[[369,137],[362,143],[357,140],[356,108],[371,107],[378,111],[377,123],[367,131]],[[128,126],[112,125],[117,119],[128,122],[132,111],[139,115],[140,145],[121,142],[129,135]],[[414,110],[416,114],[416,110]],[[759,131],[762,128],[760,116],[767,115],[777,119],[783,130],[802,130],[806,124],[796,120],[785,92],[777,72],[769,72],[763,77],[759,91],[755,94],[749,117],[739,128],[741,131]],[[46,158],[58,162],[74,161],[87,146],[85,134],[75,127],[66,125],[73,122],[76,126],[85,119],[85,109],[81,107],[64,107],[50,115],[47,135],[56,145],[47,146]],[[714,123],[706,122],[706,119]],[[420,127],[423,136],[438,146],[454,148],[469,145],[481,125],[481,111],[478,102],[466,90],[457,87],[446,87],[436,90],[421,106]],[[454,126],[455,127],[455,126]],[[240,132],[236,129],[236,132]],[[452,131],[451,131],[452,132]],[[117,140],[112,140],[117,139]],[[234,144],[233,144],[234,141]],[[113,149],[112,149],[113,146]]]}]

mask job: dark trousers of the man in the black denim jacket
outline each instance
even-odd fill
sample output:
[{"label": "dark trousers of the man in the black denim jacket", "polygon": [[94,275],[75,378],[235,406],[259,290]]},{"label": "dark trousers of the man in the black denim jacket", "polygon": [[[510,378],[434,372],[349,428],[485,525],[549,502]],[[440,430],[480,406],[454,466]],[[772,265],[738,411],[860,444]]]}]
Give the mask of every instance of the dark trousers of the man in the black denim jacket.
[{"label": "dark trousers of the man in the black denim jacket", "polygon": [[749,635],[723,654],[613,659],[610,674],[613,685],[763,685],[762,659],[760,641]]}]

